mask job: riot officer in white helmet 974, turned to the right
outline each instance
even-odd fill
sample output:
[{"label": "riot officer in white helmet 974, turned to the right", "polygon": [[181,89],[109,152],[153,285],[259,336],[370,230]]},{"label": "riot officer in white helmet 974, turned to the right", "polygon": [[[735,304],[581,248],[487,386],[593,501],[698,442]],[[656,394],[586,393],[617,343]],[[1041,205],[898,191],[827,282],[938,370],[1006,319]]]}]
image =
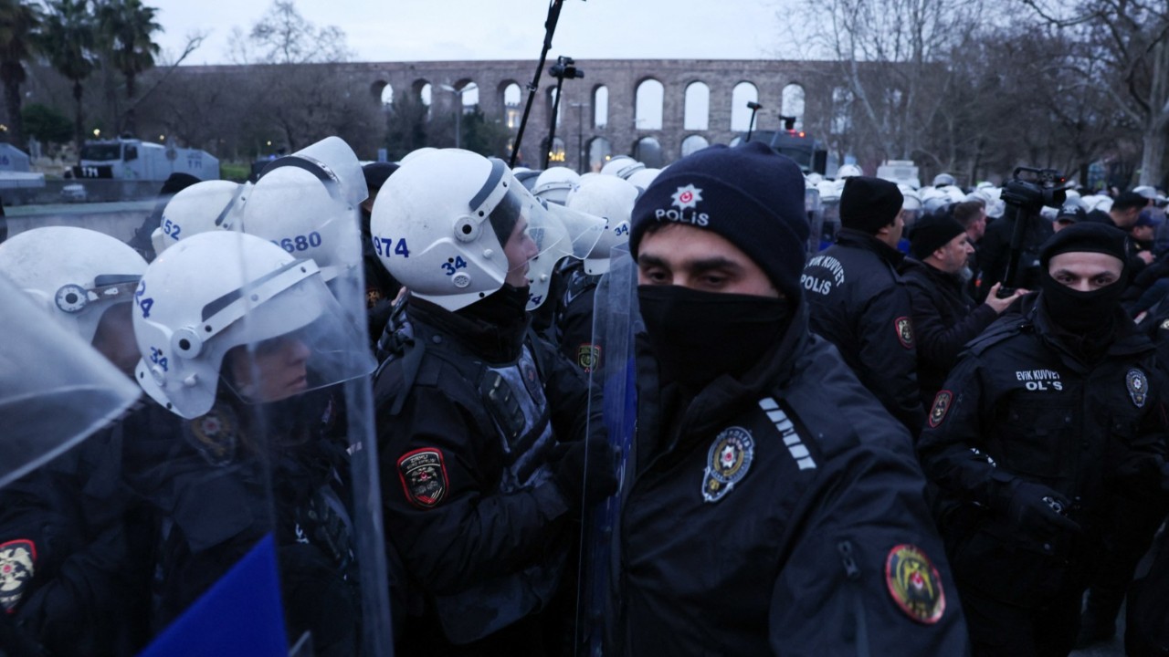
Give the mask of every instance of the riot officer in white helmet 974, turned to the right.
[{"label": "riot officer in white helmet 974, turned to the right", "polygon": [[559,650],[572,519],[614,482],[584,480],[608,455],[583,435],[584,376],[526,309],[602,229],[468,151],[410,158],[378,195],[373,240],[409,290],[374,387],[387,535],[410,589],[400,655]]}]

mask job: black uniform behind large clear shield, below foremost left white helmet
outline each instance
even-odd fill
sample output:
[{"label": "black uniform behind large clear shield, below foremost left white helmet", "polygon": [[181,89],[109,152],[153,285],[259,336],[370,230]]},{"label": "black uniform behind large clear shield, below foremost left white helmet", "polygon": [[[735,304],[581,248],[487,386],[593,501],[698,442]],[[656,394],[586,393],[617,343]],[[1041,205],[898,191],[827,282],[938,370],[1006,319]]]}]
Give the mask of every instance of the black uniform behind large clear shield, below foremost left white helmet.
[{"label": "black uniform behind large clear shield, below foremost left white helmet", "polygon": [[155,631],[272,533],[290,641],[311,631],[317,655],[355,652],[345,428],[327,388],[256,407],[221,393],[189,421],[158,404],[125,419],[126,482],[155,518]]}]

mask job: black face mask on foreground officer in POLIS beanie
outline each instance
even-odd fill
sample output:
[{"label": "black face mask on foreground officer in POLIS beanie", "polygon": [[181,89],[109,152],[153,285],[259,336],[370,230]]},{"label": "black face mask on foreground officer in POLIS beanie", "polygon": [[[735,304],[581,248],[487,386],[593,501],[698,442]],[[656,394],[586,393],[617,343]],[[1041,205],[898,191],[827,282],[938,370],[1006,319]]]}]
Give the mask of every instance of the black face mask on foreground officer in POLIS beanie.
[{"label": "black face mask on foreground officer in POLIS beanie", "polygon": [[787,299],[679,285],[639,285],[637,298],[662,379],[691,389],[742,375],[791,324]]}]

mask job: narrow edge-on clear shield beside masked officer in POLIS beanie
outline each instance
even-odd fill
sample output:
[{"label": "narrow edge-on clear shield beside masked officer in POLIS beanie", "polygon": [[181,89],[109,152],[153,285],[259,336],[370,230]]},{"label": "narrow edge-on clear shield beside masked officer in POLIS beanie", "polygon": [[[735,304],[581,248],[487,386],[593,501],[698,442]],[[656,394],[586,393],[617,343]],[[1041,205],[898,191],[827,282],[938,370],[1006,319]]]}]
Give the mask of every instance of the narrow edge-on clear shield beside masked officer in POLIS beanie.
[{"label": "narrow edge-on clear shield beside masked officer in POLIS beanie", "polygon": [[[613,567],[617,556],[614,549],[621,503],[627,482],[627,464],[634,463],[634,426],[637,420],[637,390],[635,387],[634,336],[639,325],[637,313],[637,265],[629,253],[629,244],[611,249],[609,272],[596,289],[593,314],[593,362],[589,373],[594,390],[589,417],[595,404],[601,404],[601,421],[609,444],[617,454],[617,493],[594,509],[586,510],[582,520],[581,565],[577,590],[576,655],[601,655],[604,648],[606,621],[610,618]],[[588,435],[596,428],[589,427]],[[586,476],[589,468],[586,464]]]}]

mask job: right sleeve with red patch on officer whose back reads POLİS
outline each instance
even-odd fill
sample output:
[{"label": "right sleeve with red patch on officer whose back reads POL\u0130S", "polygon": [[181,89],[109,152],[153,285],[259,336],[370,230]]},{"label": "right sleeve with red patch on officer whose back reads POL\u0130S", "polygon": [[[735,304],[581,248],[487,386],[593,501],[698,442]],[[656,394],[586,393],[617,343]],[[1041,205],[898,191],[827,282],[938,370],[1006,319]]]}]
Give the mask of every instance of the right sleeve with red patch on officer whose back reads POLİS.
[{"label": "right sleeve with red patch on officer whose back reads POL\u0130S", "polygon": [[914,436],[925,423],[919,399],[909,293],[900,284],[883,290],[859,314],[860,382]]}]

